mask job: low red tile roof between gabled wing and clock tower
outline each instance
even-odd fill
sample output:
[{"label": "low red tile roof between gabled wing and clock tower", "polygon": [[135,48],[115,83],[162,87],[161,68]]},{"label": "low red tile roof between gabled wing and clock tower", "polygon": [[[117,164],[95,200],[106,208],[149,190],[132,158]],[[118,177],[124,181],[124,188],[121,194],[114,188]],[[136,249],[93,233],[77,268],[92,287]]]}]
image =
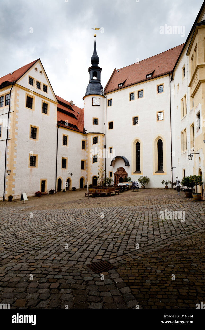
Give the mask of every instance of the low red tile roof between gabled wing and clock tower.
[{"label": "low red tile roof between gabled wing and clock tower", "polygon": [[[70,127],[70,126],[65,126],[66,128],[72,129],[74,131],[84,132],[84,109],[80,109],[80,108],[76,107],[74,104],[71,105],[70,102],[62,99],[60,96],[56,95],[56,98],[57,98],[57,101],[63,102],[73,109],[73,110],[70,110],[63,105],[58,104],[57,105],[57,122],[59,122],[61,120],[63,120],[63,121],[67,120],[69,124],[77,126],[77,129]],[[62,113],[61,110],[63,110],[66,113]],[[76,117],[76,119],[69,116],[69,114],[71,116],[74,115]]]}]

